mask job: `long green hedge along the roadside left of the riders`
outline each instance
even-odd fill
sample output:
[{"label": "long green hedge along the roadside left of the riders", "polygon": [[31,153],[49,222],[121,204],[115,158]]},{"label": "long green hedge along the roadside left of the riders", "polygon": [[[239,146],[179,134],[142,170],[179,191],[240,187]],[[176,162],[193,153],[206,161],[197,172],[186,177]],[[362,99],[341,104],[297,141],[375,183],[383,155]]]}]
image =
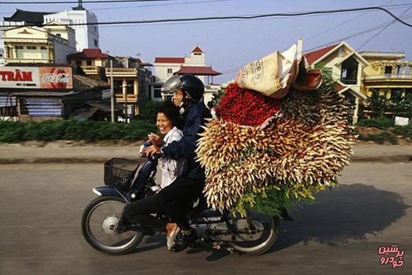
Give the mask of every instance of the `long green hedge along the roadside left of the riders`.
[{"label": "long green hedge along the roadside left of the riders", "polygon": [[156,132],[153,122],[137,120],[129,124],[47,120],[44,122],[0,122],[0,142],[26,140],[139,140]]}]

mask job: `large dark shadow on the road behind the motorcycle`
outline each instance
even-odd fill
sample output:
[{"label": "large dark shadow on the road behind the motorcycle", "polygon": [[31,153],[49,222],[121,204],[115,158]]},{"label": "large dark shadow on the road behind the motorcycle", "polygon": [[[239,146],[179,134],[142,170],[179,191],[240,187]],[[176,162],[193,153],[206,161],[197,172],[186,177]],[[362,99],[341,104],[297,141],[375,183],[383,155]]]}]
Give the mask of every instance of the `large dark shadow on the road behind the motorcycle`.
[{"label": "large dark shadow on the road behind the motorcycle", "polygon": [[400,195],[364,184],[341,184],[332,191],[319,192],[316,203],[295,207],[295,221],[283,222],[279,239],[268,253],[303,241],[339,245],[363,240],[400,219],[408,206]]}]

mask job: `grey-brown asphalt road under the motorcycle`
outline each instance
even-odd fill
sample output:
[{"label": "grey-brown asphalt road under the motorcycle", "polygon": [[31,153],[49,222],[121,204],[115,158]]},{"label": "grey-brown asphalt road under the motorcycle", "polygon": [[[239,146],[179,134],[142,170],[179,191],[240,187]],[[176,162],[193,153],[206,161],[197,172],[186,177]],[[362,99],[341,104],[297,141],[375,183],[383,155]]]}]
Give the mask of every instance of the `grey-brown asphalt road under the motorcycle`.
[{"label": "grey-brown asphalt road under the motorcycle", "polygon": [[[412,164],[356,163],[341,186],[293,210],[273,248],[256,257],[168,252],[162,236],[124,256],[93,250],[80,217],[102,185],[95,164],[0,165],[0,274],[412,274]],[[398,244],[404,265],[380,265]]]}]

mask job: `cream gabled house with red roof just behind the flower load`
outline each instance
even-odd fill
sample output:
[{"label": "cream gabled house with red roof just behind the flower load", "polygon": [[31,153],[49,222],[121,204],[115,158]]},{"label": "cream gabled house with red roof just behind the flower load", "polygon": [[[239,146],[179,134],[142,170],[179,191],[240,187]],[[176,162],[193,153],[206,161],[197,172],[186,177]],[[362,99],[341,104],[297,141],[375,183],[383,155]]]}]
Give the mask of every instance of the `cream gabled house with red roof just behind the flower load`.
[{"label": "cream gabled house with red roof just behind the flower load", "polygon": [[336,81],[336,92],[354,106],[353,123],[358,121],[359,107],[367,97],[361,92],[362,72],[369,62],[349,44],[342,42],[305,54],[311,67],[321,67]]}]

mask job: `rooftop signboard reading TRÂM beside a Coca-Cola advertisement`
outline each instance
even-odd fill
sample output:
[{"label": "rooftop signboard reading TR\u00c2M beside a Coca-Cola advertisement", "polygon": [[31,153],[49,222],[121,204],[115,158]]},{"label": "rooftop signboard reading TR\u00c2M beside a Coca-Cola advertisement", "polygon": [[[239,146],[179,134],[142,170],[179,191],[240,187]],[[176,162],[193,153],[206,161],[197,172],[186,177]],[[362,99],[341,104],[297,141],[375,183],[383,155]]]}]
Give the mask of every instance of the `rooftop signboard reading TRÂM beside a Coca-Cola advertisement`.
[{"label": "rooftop signboard reading TR\u00c2M beside a Coca-Cola advertisement", "polygon": [[0,88],[73,89],[71,67],[0,67]]}]

